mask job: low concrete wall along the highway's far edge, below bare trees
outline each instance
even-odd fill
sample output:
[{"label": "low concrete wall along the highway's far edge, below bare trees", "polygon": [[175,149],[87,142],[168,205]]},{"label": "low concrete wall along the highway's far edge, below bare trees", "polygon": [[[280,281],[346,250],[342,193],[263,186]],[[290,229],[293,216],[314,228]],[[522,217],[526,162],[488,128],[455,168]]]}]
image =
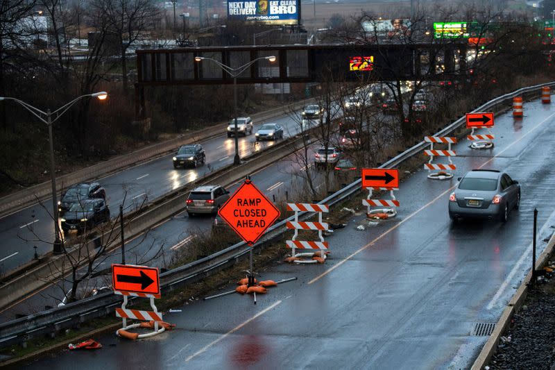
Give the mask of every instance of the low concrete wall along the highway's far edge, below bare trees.
[{"label": "low concrete wall along the highway's far edge, below bare trees", "polygon": [[[291,103],[287,106],[281,106],[278,108],[272,108],[265,112],[260,112],[253,115],[253,121],[266,121],[268,119],[273,119],[275,117],[280,117],[289,113],[289,110],[297,110],[305,106],[305,104],[314,101],[314,99],[306,99],[303,101],[298,101],[296,103]],[[107,160],[105,162],[97,163],[78,171],[72,172],[71,174],[65,174],[56,178],[56,185],[58,185],[58,192],[62,192],[67,187],[82,183],[87,180],[96,180],[103,176],[108,176],[126,167],[131,167],[133,165],[138,165],[146,160],[151,160],[157,158],[161,155],[169,154],[176,151],[179,146],[184,144],[191,144],[194,142],[199,142],[201,140],[208,140],[212,137],[217,137],[224,135],[225,128],[228,126],[228,121],[224,123],[216,124],[209,128],[204,128],[203,130],[195,131],[192,133],[186,133],[175,137],[171,140],[153,144],[151,146],[146,146],[145,148],[134,151],[133,153],[128,153],[124,155],[118,155],[115,158]],[[18,192],[3,196],[0,198],[0,218],[9,215],[12,212],[16,212],[22,208],[32,205],[36,202],[36,199],[44,200],[51,196],[52,187],[50,181],[45,183],[33,185],[24,190],[19,190]]]}]

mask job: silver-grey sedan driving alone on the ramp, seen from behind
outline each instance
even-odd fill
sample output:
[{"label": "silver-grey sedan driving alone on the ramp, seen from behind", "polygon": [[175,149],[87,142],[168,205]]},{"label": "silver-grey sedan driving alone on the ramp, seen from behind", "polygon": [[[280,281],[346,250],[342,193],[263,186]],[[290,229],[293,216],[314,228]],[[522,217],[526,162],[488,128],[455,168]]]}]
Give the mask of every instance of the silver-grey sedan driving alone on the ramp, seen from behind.
[{"label": "silver-grey sedan driving alone on the ramp, seen from behind", "polygon": [[506,221],[509,212],[520,206],[520,185],[508,174],[490,169],[474,169],[459,178],[449,196],[449,217],[476,217]]}]

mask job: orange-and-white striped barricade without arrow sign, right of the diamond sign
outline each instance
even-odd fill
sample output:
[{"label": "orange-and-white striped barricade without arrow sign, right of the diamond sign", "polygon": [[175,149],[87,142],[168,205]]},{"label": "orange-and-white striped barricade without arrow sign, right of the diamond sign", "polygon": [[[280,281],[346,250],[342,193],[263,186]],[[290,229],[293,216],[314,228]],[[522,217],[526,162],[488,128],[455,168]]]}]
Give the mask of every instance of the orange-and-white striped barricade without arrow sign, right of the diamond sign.
[{"label": "orange-and-white striped barricade without arrow sign, right of the diamond sign", "polygon": [[[330,207],[327,204],[309,204],[309,203],[287,203],[287,210],[295,212],[295,221],[287,221],[287,228],[295,230],[293,233],[293,237],[291,240],[286,241],[287,248],[291,248],[291,257],[293,258],[302,258],[302,257],[314,257],[314,255],[318,254],[324,260],[326,259],[326,251],[329,249],[329,244],[324,242],[324,236],[322,234],[323,231],[328,229],[327,223],[322,221],[322,214],[325,212],[330,212]],[[317,212],[318,213],[318,221],[299,221],[299,212]],[[297,240],[298,231],[299,230],[317,230],[318,231],[318,238],[320,241],[318,242],[311,242],[311,241],[302,241]],[[311,249],[314,251],[315,249],[318,252],[302,252],[296,253],[297,249]],[[309,263],[317,263],[317,260],[293,260],[295,263],[302,263],[302,264],[309,264]]]}]

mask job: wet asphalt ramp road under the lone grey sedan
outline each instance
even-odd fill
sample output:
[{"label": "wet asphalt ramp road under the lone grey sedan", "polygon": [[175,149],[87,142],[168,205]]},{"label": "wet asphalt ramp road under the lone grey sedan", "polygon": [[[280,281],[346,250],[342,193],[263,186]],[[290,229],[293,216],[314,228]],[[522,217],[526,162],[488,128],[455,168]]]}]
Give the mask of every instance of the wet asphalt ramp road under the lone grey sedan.
[{"label": "wet asphalt ramp road under the lone grey sedan", "polygon": [[[531,264],[533,208],[538,254],[555,225],[555,108],[524,105],[520,123],[496,117],[492,151],[455,149],[456,176],[474,168],[506,170],[522,186],[506,224],[452,224],[454,180],[418,171],[400,185],[396,219],[364,231],[355,217],[327,238],[324,265],[278,263],[259,278],[298,280],[258,296],[196,301],[165,314],[177,329],[153,339],[98,339],[96,352],[60,351],[28,369],[465,369],[487,337],[474,323],[495,323]],[[239,276],[237,277],[239,278]],[[229,289],[233,289],[232,286]],[[227,290],[227,288],[225,289]]]}]

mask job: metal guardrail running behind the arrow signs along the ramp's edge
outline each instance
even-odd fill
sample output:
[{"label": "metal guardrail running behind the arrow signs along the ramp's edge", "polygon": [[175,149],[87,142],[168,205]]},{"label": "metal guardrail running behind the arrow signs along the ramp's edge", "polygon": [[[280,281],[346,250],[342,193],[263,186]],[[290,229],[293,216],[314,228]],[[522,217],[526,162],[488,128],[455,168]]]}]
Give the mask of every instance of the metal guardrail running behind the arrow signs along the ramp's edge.
[{"label": "metal guardrail running behind the arrow signs along the ramp's edge", "polygon": [[[504,94],[503,96],[499,96],[491,101],[488,101],[487,103],[482,104],[475,110],[472,110],[472,112],[497,110],[500,106],[506,105],[507,101],[512,99],[514,96],[522,94],[527,94],[529,96],[535,96],[536,94],[539,95],[540,88],[546,85],[554,87],[555,82],[524,87],[516,90],[515,92]],[[452,133],[457,128],[461,127],[465,121],[465,117],[461,117],[435,135],[443,136]],[[395,158],[388,160],[379,167],[391,168],[397,166],[401,162],[413,157],[413,155],[420,153],[420,151],[424,150],[427,145],[428,144],[425,142],[420,142],[395,156]],[[341,203],[341,201],[349,198],[352,194],[355,194],[360,190],[360,182],[360,179],[355,180],[353,183],[343,187],[343,189],[338,192],[335,192],[326,199],[323,199],[320,203],[329,205]],[[312,212],[302,212],[300,213],[300,216],[309,217],[311,214]],[[278,224],[274,224],[268,229],[268,232],[264,234],[261,241],[257,242],[255,248],[262,247],[267,242],[281,237],[284,232],[287,231],[285,224],[287,221],[291,221],[292,219],[293,216],[278,222]],[[166,271],[160,275],[160,287],[162,292],[171,292],[173,289],[177,289],[182,285],[193,283],[194,281],[200,280],[205,276],[209,276],[214,271],[219,271],[220,269],[228,267],[230,264],[234,264],[234,262],[239,260],[239,258],[246,255],[249,249],[250,248],[246,245],[246,243],[239,242],[201,260]],[[112,292],[107,292],[99,294],[98,296],[85,298],[75,303],[69,303],[61,308],[52,308],[51,310],[32,314],[28,317],[1,323],[0,347],[25,342],[29,338],[36,337],[37,335],[56,333],[59,330],[75,326],[76,323],[83,323],[89,319],[103,317],[106,314],[111,314],[113,312],[113,308],[116,305],[119,305],[120,302],[121,297],[115,296]]]}]

